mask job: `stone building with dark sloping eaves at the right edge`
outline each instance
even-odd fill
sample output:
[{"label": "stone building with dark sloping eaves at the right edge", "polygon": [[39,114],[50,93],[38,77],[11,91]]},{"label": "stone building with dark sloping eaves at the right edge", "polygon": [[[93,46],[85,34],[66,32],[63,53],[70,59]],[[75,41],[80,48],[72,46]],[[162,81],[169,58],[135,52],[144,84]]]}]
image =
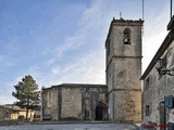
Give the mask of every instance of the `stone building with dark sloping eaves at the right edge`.
[{"label": "stone building with dark sloping eaves at the right edge", "polygon": [[140,78],[144,81],[142,115],[146,123],[152,121],[164,125],[174,120],[173,101],[171,108],[164,107],[164,96],[174,94],[174,17],[167,30],[169,34]]}]

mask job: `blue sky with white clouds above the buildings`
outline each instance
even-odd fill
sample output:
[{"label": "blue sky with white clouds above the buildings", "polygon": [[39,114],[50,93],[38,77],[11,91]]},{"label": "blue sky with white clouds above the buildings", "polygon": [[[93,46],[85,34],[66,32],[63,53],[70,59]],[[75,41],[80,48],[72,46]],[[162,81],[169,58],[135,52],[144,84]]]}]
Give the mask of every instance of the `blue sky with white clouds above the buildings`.
[{"label": "blue sky with white clouds above the buildings", "polygon": [[[141,0],[0,0],[0,104],[32,75],[39,88],[105,83],[113,17],[142,18]],[[166,36],[170,0],[145,0],[142,72]]]}]

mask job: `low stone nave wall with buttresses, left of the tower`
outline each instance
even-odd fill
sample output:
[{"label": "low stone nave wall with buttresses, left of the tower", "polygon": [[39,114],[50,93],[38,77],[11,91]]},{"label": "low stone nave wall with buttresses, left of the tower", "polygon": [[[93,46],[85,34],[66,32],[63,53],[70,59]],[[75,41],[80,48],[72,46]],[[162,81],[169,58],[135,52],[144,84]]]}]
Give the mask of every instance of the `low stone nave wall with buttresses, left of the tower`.
[{"label": "low stone nave wall with buttresses, left of the tower", "polygon": [[107,94],[104,84],[64,83],[42,89],[42,117],[51,115],[54,120],[95,120],[96,107],[100,106],[103,108],[102,119],[107,119]]}]

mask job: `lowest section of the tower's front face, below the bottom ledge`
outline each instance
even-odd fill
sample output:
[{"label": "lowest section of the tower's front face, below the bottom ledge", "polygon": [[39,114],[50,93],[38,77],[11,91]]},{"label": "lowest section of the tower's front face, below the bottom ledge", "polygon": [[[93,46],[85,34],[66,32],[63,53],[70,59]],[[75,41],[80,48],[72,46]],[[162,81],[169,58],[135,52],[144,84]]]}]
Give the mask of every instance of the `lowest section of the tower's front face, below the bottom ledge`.
[{"label": "lowest section of the tower's front face, below the bottom ledge", "polygon": [[141,122],[141,91],[114,91],[114,119],[116,122]]}]

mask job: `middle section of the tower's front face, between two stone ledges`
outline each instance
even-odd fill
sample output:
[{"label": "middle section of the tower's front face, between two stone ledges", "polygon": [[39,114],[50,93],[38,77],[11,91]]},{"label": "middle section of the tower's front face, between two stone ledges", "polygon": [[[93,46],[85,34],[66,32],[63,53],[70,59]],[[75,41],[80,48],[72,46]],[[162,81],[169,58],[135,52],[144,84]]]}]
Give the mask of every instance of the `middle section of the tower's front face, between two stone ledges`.
[{"label": "middle section of the tower's front face, between two stone ledges", "polygon": [[114,57],[113,89],[141,89],[141,58]]}]

